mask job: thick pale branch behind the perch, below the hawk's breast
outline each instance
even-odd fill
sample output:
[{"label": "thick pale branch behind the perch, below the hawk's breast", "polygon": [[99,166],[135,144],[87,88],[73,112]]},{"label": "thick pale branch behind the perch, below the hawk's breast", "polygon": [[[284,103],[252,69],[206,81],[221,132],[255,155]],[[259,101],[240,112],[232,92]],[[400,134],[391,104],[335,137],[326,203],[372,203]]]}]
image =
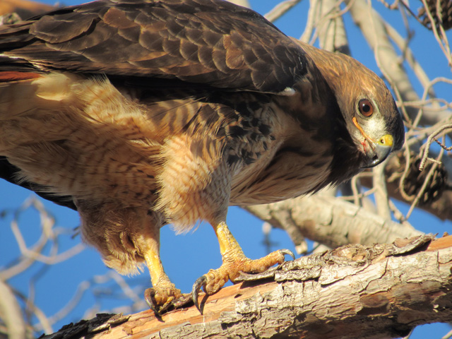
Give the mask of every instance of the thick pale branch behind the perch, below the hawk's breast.
[{"label": "thick pale branch behind the perch, below the hawk's breast", "polygon": [[302,244],[304,237],[335,248],[345,244],[384,244],[422,234],[408,223],[400,225],[340,198],[320,194],[245,209],[285,230],[295,246]]}]

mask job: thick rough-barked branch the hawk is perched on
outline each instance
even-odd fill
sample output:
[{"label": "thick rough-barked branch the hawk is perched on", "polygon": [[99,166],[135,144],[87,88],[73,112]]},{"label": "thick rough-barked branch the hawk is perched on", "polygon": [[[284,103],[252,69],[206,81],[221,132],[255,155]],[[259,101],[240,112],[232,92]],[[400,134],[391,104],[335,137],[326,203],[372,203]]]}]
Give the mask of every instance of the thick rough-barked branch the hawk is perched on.
[{"label": "thick rough-barked branch the hawk is perched on", "polygon": [[100,315],[42,338],[397,338],[452,321],[452,237],[347,245],[284,263],[156,318]]}]

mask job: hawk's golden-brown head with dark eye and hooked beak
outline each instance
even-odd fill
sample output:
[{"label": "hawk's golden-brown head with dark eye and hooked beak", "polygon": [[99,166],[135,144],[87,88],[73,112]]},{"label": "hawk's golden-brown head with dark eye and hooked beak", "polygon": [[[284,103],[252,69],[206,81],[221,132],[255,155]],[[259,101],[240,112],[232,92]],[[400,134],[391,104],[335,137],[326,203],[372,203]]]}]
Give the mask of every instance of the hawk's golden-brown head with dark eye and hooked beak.
[{"label": "hawk's golden-brown head with dark eye and hooked beak", "polygon": [[385,83],[351,57],[315,47],[316,66],[333,90],[347,130],[361,156],[359,168],[379,165],[394,150],[400,150],[405,139],[402,117],[393,95]]}]

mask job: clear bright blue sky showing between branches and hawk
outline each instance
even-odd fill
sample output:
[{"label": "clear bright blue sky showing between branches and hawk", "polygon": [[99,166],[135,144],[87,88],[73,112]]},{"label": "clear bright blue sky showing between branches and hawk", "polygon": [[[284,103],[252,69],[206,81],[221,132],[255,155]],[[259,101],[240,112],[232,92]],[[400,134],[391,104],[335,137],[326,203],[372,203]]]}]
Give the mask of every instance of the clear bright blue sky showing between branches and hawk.
[{"label": "clear bright blue sky showing between branches and hawk", "polygon": [[[53,1],[42,2],[52,4]],[[81,2],[82,1],[66,0],[64,1],[64,4],[71,5]],[[251,0],[250,3],[255,11],[265,14],[273,8],[278,1]],[[309,3],[307,1],[302,1],[302,3],[297,5],[291,13],[288,13],[284,18],[278,20],[275,25],[287,35],[299,37],[302,34],[306,23],[307,6],[309,6]],[[379,9],[383,8],[383,5],[377,1],[374,1],[374,6]],[[398,28],[400,32],[404,32],[403,23],[401,22],[398,13],[387,10],[383,10],[382,13],[384,18],[391,20],[391,23],[396,25],[396,28]],[[352,24],[350,17],[346,15],[346,18],[348,19],[346,28],[347,35],[351,42],[352,56],[376,73],[380,73],[376,68],[374,54],[367,46],[367,42],[362,38],[355,25]],[[419,28],[415,23],[413,23],[413,27]],[[450,33],[449,38],[452,40]],[[432,32],[429,32],[424,28],[417,29],[410,47],[412,47],[420,64],[425,67],[425,71],[427,71],[430,78],[436,76],[450,77],[450,69],[448,69],[438,44],[432,38]],[[448,73],[444,73],[445,71]],[[413,84],[417,90],[421,90],[417,81],[413,80]],[[445,97],[449,102],[452,101],[450,87],[439,86],[436,90],[439,96]],[[18,246],[13,238],[10,227],[12,219],[11,211],[17,206],[20,206],[20,204],[30,196],[32,196],[30,191],[0,181],[0,212],[1,210],[6,210],[5,217],[0,219],[0,268],[10,264],[13,259],[18,256]],[[44,202],[44,205],[52,211],[59,227],[73,230],[73,228],[78,226],[79,219],[77,213],[47,201]],[[403,204],[399,204],[398,207],[405,212],[408,210],[408,206]],[[26,234],[26,243],[28,245],[34,244],[40,236],[40,228],[37,226],[39,225],[37,213],[28,211],[20,216],[19,221],[20,229]],[[445,231],[450,232],[451,230],[451,222],[441,222],[441,220],[438,220],[431,215],[427,215],[427,213],[416,212],[409,221],[418,230],[422,230],[423,232],[442,234]],[[247,256],[250,258],[259,258],[266,255],[266,248],[262,244],[263,234],[261,231],[261,220],[254,218],[240,208],[230,208],[227,222]],[[272,248],[273,250],[277,248],[287,248],[295,251],[292,242],[285,232],[281,230],[272,230],[271,239],[272,242],[275,243],[275,246]],[[65,248],[74,246],[79,242],[81,242],[80,237],[72,238],[70,235],[61,237],[60,251],[64,251]],[[196,278],[203,275],[203,273],[206,273],[210,268],[217,268],[221,264],[218,242],[212,227],[209,225],[201,224],[196,232],[189,232],[189,234],[177,236],[172,232],[171,227],[164,227],[162,229],[161,243],[161,256],[165,270],[169,275],[169,278],[172,279],[177,287],[182,289],[182,292],[189,292],[191,290],[191,285]],[[48,250],[49,249],[47,249],[47,251]],[[35,277],[35,275],[42,270],[43,266],[41,264],[36,264],[35,266],[32,266],[30,271],[18,275],[16,278],[12,278],[8,283],[24,295],[28,295],[30,293],[30,279]],[[73,297],[81,282],[92,279],[94,275],[104,275],[107,272],[109,272],[109,269],[103,265],[97,252],[87,248],[81,252],[81,254],[71,258],[69,261],[45,268],[42,272],[44,274],[40,275],[40,278],[35,285],[36,304],[42,309],[44,314],[51,316]],[[136,290],[139,290],[140,287],[148,287],[149,284],[149,275],[147,271],[134,277],[124,277],[124,279],[133,288],[136,288]],[[100,284],[96,291],[102,292],[102,289],[108,290],[112,286],[112,283]],[[141,294],[139,296],[141,297]],[[100,311],[127,303],[112,298],[101,298],[100,300]],[[78,307],[71,311],[70,316],[56,323],[53,326],[53,330],[56,331],[64,324],[71,321],[80,320],[83,317],[85,309],[90,307],[95,301],[96,298],[93,296],[93,293],[85,293]],[[415,333],[411,338],[441,338],[441,336],[445,335],[447,332],[448,326],[444,324],[421,326],[415,330]]]}]

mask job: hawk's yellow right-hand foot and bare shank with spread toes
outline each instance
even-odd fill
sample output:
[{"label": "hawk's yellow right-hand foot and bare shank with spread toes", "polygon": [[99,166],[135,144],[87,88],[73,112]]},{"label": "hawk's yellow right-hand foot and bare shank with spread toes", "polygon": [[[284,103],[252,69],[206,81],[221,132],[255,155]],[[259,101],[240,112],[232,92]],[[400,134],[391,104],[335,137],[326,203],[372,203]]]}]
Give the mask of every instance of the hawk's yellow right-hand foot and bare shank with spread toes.
[{"label": "hawk's yellow right-hand foot and bare shank with spread toes", "polygon": [[216,270],[209,270],[208,273],[198,278],[191,290],[191,298],[201,312],[198,304],[198,295],[201,287],[208,295],[218,292],[225,285],[227,280],[232,283],[239,277],[240,272],[244,273],[262,273],[271,266],[284,262],[285,254],[289,254],[295,259],[295,255],[288,249],[274,251],[263,258],[251,260],[246,258],[237,240],[234,239],[225,222],[221,222],[215,227],[215,233],[220,242],[220,251],[222,254],[222,265]]}]

